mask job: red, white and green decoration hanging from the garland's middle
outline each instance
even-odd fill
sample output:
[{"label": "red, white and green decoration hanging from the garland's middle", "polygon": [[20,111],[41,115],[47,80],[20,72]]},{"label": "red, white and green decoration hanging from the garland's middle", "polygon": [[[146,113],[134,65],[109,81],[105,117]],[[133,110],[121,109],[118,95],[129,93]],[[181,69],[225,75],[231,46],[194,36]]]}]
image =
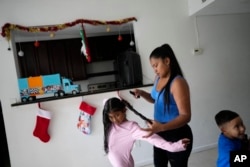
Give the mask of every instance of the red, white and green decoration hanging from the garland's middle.
[{"label": "red, white and green decoration hanging from the garland's middle", "polygon": [[80,29],[80,35],[82,38],[81,53],[86,57],[87,62],[90,63],[91,62],[90,50],[89,50],[88,41],[86,38],[86,33],[85,33],[85,29],[84,29],[83,24],[82,24],[81,29]]}]

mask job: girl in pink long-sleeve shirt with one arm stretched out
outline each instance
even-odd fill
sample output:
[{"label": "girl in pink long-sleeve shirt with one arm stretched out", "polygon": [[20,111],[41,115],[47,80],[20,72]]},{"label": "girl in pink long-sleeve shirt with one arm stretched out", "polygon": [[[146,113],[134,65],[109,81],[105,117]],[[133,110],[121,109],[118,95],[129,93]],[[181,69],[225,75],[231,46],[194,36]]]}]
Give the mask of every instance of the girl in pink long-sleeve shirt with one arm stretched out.
[{"label": "girl in pink long-sleeve shirt with one arm stretched out", "polygon": [[103,108],[104,151],[113,167],[134,167],[131,151],[136,140],[144,140],[155,147],[170,151],[184,151],[189,139],[167,142],[157,134],[144,137],[148,132],[126,118],[126,106],[118,98],[110,98]]}]

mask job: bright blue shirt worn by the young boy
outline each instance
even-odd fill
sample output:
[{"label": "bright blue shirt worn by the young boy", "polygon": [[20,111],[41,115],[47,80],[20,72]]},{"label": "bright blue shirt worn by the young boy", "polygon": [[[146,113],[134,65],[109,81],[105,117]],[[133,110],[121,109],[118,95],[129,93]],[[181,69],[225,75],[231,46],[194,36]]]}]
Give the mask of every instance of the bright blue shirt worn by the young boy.
[{"label": "bright blue shirt worn by the young boy", "polygon": [[240,139],[229,139],[221,133],[218,140],[217,167],[230,167],[230,151],[237,151],[240,149]]}]

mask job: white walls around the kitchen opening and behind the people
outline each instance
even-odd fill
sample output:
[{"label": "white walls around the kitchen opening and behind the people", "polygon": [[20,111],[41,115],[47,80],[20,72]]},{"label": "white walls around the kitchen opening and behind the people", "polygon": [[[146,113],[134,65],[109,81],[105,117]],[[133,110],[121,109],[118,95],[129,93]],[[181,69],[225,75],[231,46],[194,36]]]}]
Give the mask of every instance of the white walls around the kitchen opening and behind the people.
[{"label": "white walls around the kitchen opening and behind the people", "polygon": [[[47,3],[47,4],[46,4]],[[218,128],[214,115],[221,109],[239,112],[250,128],[250,14],[199,16],[199,42],[204,53],[193,56],[197,47],[194,18],[188,14],[187,0],[75,0],[50,2],[2,0],[0,25],[7,22],[32,25],[51,25],[79,18],[117,20],[135,16],[137,50],[141,55],[143,74],[154,78],[148,56],[163,43],[169,43],[190,84],[194,150],[216,146]],[[42,143],[32,135],[37,104],[11,107],[19,99],[17,74],[13,53],[0,38],[0,100],[7,133],[12,167],[110,166],[103,151],[102,105],[105,98],[116,92],[43,102],[51,111],[51,139]],[[150,87],[145,88],[150,90]],[[142,99],[133,101],[122,91],[135,108],[152,117],[153,106]],[[77,128],[79,104],[82,100],[97,107],[92,117],[92,134],[82,134]],[[130,119],[144,123],[132,113]],[[247,131],[249,133],[249,130]],[[133,151],[138,165],[152,162],[151,146],[137,142]]]}]

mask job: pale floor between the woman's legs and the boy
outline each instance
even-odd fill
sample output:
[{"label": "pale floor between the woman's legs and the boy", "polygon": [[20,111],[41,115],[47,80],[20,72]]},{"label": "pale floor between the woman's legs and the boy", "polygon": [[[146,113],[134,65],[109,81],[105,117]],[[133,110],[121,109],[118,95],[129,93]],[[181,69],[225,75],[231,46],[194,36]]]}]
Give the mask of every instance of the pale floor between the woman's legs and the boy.
[{"label": "pale floor between the woman's legs and the boy", "polygon": [[[189,167],[215,167],[217,159],[217,148],[192,153],[189,158]],[[154,167],[147,165],[143,167]]]}]

